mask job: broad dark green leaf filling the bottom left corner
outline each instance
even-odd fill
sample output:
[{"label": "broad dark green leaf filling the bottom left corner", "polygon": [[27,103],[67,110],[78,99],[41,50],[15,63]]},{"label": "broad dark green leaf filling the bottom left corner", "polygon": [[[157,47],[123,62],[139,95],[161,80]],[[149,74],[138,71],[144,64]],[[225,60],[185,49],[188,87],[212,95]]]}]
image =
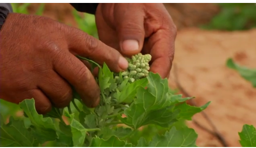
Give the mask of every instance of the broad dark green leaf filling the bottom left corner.
[{"label": "broad dark green leaf filling the bottom left corner", "polygon": [[39,143],[32,130],[26,129],[22,120],[14,120],[13,117],[5,125],[0,114],[0,147],[38,147]]}]

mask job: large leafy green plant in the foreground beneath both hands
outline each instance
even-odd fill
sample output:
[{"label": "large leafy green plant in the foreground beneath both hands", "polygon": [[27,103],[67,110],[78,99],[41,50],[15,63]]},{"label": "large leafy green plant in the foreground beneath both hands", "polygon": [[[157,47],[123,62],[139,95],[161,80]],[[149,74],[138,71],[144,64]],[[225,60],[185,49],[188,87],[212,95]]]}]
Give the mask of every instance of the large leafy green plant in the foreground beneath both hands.
[{"label": "large leafy green plant in the foreground beneath both hands", "polygon": [[[78,56],[79,58],[83,58]],[[86,59],[86,58],[83,58]],[[168,87],[168,80],[159,74],[149,72],[147,77],[129,82],[122,72],[115,77],[106,64],[99,66],[88,60],[93,67],[99,67],[96,78],[101,89],[100,104],[87,108],[74,92],[72,101],[76,112],[70,107],[53,108],[46,115],[35,110],[34,99],[19,104],[24,117],[5,124],[0,120],[0,146],[12,147],[194,147],[197,134],[184,123],[207,108],[186,104],[180,94],[174,95]],[[131,66],[131,65],[130,65]],[[75,102],[75,100],[77,102]],[[78,107],[77,104],[82,104]],[[125,114],[126,117],[122,115]],[[64,118],[68,124],[64,122]],[[120,125],[122,124],[122,125]],[[145,127],[146,126],[146,127]],[[145,136],[145,129],[156,129],[155,135]],[[136,140],[131,136],[136,135]]]}]

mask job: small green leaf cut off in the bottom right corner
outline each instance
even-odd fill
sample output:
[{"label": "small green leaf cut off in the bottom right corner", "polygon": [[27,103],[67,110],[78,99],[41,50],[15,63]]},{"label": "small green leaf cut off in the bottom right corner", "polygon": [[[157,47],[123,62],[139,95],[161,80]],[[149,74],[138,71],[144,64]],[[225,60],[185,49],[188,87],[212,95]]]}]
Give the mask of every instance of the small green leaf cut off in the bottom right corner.
[{"label": "small green leaf cut off in the bottom right corner", "polygon": [[238,134],[242,147],[256,147],[256,129],[253,125],[245,124],[242,131],[238,132]]}]

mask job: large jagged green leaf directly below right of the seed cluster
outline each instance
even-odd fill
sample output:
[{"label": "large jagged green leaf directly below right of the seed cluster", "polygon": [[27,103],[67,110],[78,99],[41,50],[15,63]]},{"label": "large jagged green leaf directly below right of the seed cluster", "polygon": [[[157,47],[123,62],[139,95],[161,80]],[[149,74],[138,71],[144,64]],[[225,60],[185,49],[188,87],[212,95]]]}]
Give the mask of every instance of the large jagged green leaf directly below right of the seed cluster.
[{"label": "large jagged green leaf directly below right of the seed cluster", "polygon": [[[144,89],[144,87],[138,89],[134,103],[124,111],[127,117],[120,118],[123,123],[132,128],[138,129],[148,124],[169,127],[178,121],[180,116],[186,119],[190,118],[208,106],[207,104],[203,107],[184,105],[175,107],[177,103],[190,98],[181,98],[181,95],[170,94],[168,80],[162,79],[159,74],[150,72],[147,78],[149,80],[148,89]],[[185,116],[184,110],[191,112]]]}]

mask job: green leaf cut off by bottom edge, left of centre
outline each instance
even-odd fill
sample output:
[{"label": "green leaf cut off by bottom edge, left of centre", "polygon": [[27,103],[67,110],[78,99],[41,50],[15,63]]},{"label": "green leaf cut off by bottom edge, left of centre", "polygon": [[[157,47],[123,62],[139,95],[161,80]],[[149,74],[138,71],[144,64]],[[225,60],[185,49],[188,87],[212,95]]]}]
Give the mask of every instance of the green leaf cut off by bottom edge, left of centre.
[{"label": "green leaf cut off by bottom edge, left of centre", "polygon": [[92,138],[90,147],[132,147],[132,145],[125,141],[121,141],[116,136],[111,136],[107,140],[99,137]]}]

